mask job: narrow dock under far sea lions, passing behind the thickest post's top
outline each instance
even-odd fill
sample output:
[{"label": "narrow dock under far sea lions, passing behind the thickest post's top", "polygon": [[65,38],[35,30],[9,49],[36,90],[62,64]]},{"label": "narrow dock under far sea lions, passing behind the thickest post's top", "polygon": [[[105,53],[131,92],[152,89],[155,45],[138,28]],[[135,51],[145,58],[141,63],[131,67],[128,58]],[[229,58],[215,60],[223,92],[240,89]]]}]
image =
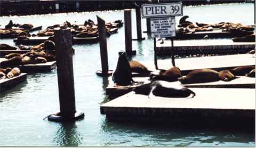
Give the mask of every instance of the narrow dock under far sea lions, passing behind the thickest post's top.
[{"label": "narrow dock under far sea lions, passing behind the thickest post's top", "polygon": [[[13,42],[16,44],[23,44],[23,45],[38,45],[44,43],[49,37],[29,37],[28,39],[13,39]],[[73,44],[89,44],[89,43],[97,43],[99,42],[99,37],[87,37],[87,38],[78,38],[73,37],[72,43]]]}]

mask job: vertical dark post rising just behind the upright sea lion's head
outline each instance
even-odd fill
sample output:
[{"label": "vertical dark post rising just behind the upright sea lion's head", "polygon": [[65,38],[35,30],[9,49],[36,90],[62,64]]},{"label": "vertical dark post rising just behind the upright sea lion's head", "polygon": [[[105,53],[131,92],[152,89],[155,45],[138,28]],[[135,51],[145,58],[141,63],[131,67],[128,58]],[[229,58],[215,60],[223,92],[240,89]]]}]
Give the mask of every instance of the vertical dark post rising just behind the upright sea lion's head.
[{"label": "vertical dark post rising just behind the upright sea lion's head", "polygon": [[125,52],[127,55],[134,55],[132,51],[132,18],[131,10],[124,10],[124,34],[125,34]]}]

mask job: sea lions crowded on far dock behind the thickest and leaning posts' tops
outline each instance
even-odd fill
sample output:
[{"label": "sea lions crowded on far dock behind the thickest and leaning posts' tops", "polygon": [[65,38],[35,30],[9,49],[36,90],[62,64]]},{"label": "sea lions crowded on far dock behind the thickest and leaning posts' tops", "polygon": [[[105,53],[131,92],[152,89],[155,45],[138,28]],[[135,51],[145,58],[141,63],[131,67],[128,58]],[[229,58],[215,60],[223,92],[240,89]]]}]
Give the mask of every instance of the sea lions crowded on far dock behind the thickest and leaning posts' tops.
[{"label": "sea lions crowded on far dock behind the thickest and leaning posts' tops", "polygon": [[[110,36],[111,34],[116,32],[119,27],[122,27],[122,26],[123,26],[122,20],[116,20],[114,22],[106,23],[107,35]],[[63,24],[54,24],[53,26],[47,27],[43,31],[39,31],[37,35],[32,35],[32,36],[52,36],[54,35],[54,28],[62,28],[62,29],[70,28],[71,34],[73,37],[86,38],[86,37],[99,36],[98,25],[90,19],[86,20],[83,25],[78,25],[75,23],[71,24],[68,21],[64,22]]]}]

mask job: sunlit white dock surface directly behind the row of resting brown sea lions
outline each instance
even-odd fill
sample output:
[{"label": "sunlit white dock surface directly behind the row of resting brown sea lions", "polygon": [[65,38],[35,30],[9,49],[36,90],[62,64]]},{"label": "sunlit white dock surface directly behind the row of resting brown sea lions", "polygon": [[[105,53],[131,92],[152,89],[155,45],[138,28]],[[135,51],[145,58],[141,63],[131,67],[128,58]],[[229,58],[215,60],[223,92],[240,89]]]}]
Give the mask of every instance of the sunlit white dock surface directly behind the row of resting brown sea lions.
[{"label": "sunlit white dock surface directly behind the row of resting brown sea lions", "polygon": [[[158,69],[172,68],[172,60],[157,60]],[[154,61],[143,62],[149,70],[155,70]],[[218,55],[175,59],[176,67],[180,68],[182,76],[195,69],[214,69],[217,71],[233,69],[244,65],[255,65],[252,54]]]}]

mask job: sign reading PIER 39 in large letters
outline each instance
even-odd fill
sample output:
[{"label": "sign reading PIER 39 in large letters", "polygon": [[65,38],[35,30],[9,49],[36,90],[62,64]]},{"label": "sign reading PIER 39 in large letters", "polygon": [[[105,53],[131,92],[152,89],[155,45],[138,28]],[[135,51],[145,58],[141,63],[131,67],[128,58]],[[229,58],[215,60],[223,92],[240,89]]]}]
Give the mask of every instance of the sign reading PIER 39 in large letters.
[{"label": "sign reading PIER 39 in large letters", "polygon": [[163,3],[142,5],[142,18],[182,16],[182,3]]}]

